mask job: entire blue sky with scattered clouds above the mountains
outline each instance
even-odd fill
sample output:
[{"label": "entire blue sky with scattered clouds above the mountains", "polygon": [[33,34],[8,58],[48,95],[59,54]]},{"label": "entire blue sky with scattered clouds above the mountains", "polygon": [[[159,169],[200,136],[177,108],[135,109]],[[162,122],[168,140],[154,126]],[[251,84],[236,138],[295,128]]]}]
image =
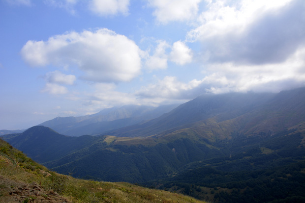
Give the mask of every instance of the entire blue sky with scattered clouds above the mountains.
[{"label": "entire blue sky with scattered clouds above the mountains", "polygon": [[303,86],[304,0],[0,0],[0,129]]}]

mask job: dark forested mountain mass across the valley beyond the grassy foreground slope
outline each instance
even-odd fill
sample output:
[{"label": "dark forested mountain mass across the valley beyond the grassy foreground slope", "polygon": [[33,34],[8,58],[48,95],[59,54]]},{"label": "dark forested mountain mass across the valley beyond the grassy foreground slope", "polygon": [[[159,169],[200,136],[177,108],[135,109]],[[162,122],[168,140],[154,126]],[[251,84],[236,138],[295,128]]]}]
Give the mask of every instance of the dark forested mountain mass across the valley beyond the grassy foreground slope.
[{"label": "dark forested mountain mass across the valley beyond the grassy foreground slope", "polygon": [[[127,181],[213,202],[302,202],[304,101],[305,88],[206,94],[159,117],[95,136],[35,126],[2,138],[49,169],[78,178]],[[80,120],[51,121],[77,129],[77,123],[86,123]]]}]

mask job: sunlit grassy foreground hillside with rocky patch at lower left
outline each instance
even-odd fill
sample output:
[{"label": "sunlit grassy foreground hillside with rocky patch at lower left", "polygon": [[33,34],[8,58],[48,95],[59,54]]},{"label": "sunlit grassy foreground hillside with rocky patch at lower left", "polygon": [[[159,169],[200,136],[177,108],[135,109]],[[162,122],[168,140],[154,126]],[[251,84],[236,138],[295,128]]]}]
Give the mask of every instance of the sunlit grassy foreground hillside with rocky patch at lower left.
[{"label": "sunlit grassy foreground hillside with rocky patch at lower left", "polygon": [[129,183],[97,182],[47,170],[0,140],[1,203],[201,203]]}]

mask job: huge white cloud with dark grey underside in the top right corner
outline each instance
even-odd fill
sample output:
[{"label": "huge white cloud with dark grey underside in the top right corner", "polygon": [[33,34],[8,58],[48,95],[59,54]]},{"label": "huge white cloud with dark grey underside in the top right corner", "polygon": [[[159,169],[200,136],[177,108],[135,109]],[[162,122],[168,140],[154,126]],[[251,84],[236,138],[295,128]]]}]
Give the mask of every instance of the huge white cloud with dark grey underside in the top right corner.
[{"label": "huge white cloud with dark grey underside in the top right corner", "polygon": [[265,64],[285,61],[305,45],[303,0],[211,1],[189,31],[209,62]]}]

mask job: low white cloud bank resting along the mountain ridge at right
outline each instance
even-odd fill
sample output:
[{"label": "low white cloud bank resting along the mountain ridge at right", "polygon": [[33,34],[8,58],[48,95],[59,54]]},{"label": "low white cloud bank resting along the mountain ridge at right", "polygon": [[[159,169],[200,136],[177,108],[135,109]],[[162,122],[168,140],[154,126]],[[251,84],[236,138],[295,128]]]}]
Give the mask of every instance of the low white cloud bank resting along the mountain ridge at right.
[{"label": "low white cloud bank resting along the mountain ridge at right", "polygon": [[281,63],[236,65],[232,62],[206,65],[202,79],[182,82],[177,77],[156,79],[135,92],[139,98],[157,101],[193,99],[204,93],[279,92],[305,85],[305,48]]}]

